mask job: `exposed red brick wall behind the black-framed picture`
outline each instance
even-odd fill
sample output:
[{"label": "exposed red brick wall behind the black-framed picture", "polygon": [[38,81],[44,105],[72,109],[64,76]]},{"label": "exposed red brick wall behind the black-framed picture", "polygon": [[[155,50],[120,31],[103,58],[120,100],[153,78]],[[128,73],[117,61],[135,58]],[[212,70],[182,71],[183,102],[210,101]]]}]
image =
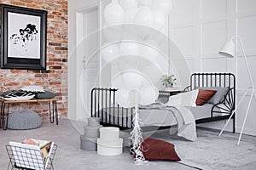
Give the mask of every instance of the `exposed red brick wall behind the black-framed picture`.
[{"label": "exposed red brick wall behind the black-framed picture", "polygon": [[[0,3],[48,11],[46,71],[0,69],[0,92],[40,85],[57,94],[58,111],[67,116],[67,0],[0,0]],[[48,105],[22,104],[10,107],[32,110],[48,117]]]}]

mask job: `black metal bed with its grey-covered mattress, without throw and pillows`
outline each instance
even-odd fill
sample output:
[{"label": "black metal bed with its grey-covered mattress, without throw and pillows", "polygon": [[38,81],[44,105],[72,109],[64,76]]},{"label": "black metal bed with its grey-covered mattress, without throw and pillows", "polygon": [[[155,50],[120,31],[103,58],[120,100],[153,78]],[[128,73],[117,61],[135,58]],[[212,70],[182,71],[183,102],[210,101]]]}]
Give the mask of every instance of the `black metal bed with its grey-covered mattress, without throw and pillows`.
[{"label": "black metal bed with its grey-covered mattress, without throw and pillows", "polygon": [[[236,104],[236,77],[232,73],[194,73],[190,77],[190,84],[184,89],[189,92],[194,89],[224,89],[223,98],[217,103],[189,107],[195,116],[195,123],[216,122],[228,119]],[[122,108],[115,102],[114,88],[93,88],[91,90],[90,116],[100,117],[102,126],[132,128],[134,108]],[[144,127],[169,127],[177,124],[170,109],[157,107],[140,107],[140,119]],[[173,109],[173,112],[175,108]],[[233,119],[233,132],[235,133],[235,114]]]}]

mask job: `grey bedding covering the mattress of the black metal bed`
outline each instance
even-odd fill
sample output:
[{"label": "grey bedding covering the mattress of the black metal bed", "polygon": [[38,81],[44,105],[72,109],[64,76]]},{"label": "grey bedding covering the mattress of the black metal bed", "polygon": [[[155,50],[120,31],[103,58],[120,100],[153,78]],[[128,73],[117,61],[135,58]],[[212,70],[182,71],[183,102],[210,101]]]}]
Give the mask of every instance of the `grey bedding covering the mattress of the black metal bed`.
[{"label": "grey bedding covering the mattress of the black metal bed", "polygon": [[[152,105],[151,105],[152,106]],[[201,106],[196,107],[187,107],[192,112],[192,114],[195,116],[195,120],[199,120],[202,118],[211,117],[211,109],[212,104],[205,104]],[[111,108],[103,108],[102,110],[98,111],[100,116],[102,117],[102,120],[104,122],[109,122],[113,124],[113,121],[115,124],[118,124],[121,126],[122,122],[125,123],[126,127],[131,127],[131,110],[123,109],[124,114],[121,115],[122,108],[117,107],[111,107]],[[108,113],[108,114],[105,114]],[[110,114],[109,114],[110,113]],[[119,114],[118,114],[119,113]],[[140,121],[142,122],[142,127],[148,127],[148,126],[173,126],[177,124],[177,119],[174,116],[177,113],[177,109],[175,108],[168,108],[168,110],[164,110],[163,108],[158,109],[150,109],[146,107],[141,107],[139,109],[139,117]],[[107,115],[107,116],[106,116]],[[119,116],[118,116],[119,115]],[[215,115],[218,116],[218,115]]]}]

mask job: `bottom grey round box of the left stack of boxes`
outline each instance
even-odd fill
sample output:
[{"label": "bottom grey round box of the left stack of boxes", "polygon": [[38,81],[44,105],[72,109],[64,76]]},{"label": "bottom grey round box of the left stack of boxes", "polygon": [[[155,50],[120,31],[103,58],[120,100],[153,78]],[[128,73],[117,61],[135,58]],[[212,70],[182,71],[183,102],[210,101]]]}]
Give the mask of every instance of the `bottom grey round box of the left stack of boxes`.
[{"label": "bottom grey round box of the left stack of boxes", "polygon": [[88,151],[96,151],[97,150],[97,144],[96,144],[97,138],[86,138],[84,136],[80,136],[80,148],[81,150],[88,150]]}]

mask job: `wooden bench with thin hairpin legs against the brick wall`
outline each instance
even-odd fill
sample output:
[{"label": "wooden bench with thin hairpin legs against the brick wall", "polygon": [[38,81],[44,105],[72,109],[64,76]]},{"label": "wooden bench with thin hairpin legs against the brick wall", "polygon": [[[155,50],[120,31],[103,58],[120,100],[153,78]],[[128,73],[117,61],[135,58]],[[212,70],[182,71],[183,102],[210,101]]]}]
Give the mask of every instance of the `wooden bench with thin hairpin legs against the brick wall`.
[{"label": "wooden bench with thin hairpin legs against the brick wall", "polygon": [[[38,102],[48,102],[49,106],[49,122],[54,123],[56,119],[56,125],[59,124],[58,119],[58,108],[57,101],[60,99],[29,99],[29,100],[4,100],[0,99],[1,102],[1,111],[0,111],[0,127],[3,127],[3,130],[7,129],[8,126],[8,117],[9,117],[9,105],[17,103],[38,103]],[[6,121],[4,120],[4,113],[7,106]],[[52,106],[52,107],[51,107]]]}]

